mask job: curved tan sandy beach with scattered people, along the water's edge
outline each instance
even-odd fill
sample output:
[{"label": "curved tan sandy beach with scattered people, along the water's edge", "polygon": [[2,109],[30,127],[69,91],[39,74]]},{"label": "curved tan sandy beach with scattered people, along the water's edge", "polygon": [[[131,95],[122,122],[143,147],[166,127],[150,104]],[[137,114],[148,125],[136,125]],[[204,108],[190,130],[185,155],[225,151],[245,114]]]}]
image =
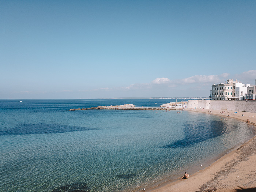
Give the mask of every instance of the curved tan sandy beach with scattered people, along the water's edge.
[{"label": "curved tan sandy beach with scattered people, along the water's edge", "polygon": [[[256,113],[226,110],[192,109],[191,112],[220,116],[220,120],[237,119],[256,126]],[[210,113],[211,111],[211,113]],[[224,112],[224,111],[223,111]],[[227,113],[229,112],[229,113]],[[237,112],[237,113],[234,113]],[[229,116],[228,116],[229,114]],[[242,114],[244,116],[242,116]],[[253,117],[254,116],[254,117]],[[188,173],[191,175],[191,173]],[[180,178],[182,175],[180,176]],[[241,147],[224,155],[210,166],[194,173],[188,180],[166,182],[150,192],[238,192],[256,191],[256,136]]]}]

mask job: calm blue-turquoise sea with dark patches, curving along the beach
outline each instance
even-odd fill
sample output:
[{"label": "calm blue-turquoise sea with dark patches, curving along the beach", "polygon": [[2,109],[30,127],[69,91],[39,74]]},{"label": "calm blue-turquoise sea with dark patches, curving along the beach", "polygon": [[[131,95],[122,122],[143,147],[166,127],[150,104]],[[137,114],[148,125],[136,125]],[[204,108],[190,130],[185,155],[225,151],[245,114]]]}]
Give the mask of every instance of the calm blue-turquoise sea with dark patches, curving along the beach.
[{"label": "calm blue-turquoise sea with dark patches, curving along the beach", "polygon": [[254,134],[246,123],[188,111],[68,111],[170,101],[0,100],[0,191],[137,191]]}]

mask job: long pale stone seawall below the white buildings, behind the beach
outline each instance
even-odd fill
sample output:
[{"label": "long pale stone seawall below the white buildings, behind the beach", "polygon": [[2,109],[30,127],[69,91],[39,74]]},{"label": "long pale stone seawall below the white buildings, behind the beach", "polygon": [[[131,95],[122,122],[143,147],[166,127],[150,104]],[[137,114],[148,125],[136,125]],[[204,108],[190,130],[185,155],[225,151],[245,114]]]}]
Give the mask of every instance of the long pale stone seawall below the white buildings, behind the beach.
[{"label": "long pale stone seawall below the white buildings, behind the beach", "polygon": [[256,101],[189,100],[188,109],[233,110],[256,113]]}]

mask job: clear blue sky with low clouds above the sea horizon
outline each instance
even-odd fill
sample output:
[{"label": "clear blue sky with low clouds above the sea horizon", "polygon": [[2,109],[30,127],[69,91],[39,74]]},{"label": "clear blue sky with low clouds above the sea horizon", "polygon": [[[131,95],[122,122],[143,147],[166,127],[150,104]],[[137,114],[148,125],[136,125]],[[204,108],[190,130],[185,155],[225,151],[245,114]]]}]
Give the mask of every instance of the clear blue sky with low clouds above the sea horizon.
[{"label": "clear blue sky with low clouds above the sea horizon", "polygon": [[0,1],[0,98],[208,97],[255,84],[256,1]]}]

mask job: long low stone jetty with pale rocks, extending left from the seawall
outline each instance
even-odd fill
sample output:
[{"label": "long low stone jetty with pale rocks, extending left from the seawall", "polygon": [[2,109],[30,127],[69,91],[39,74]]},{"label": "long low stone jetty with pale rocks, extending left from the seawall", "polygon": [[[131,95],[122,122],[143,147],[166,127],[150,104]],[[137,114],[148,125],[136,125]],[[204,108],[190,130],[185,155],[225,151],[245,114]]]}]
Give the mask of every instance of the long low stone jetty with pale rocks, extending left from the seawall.
[{"label": "long low stone jetty with pale rocks, extending left from the seawall", "polygon": [[97,106],[92,108],[78,108],[78,109],[69,109],[69,111],[77,111],[77,110],[91,110],[91,109],[116,109],[116,110],[182,110],[184,107],[176,107],[170,108],[166,107],[135,107],[133,104],[125,104],[125,105],[110,105],[110,106]]}]

